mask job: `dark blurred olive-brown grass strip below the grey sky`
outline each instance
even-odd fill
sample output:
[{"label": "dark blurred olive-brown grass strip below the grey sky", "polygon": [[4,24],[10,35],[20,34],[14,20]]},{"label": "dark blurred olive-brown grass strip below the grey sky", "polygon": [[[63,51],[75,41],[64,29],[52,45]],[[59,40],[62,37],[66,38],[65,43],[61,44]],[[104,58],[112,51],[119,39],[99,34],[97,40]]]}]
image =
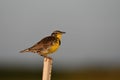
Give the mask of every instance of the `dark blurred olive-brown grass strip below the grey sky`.
[{"label": "dark blurred olive-brown grass strip below the grey sky", "polygon": [[[42,70],[0,69],[0,80],[41,80]],[[52,80],[120,80],[120,68],[53,70]]]}]

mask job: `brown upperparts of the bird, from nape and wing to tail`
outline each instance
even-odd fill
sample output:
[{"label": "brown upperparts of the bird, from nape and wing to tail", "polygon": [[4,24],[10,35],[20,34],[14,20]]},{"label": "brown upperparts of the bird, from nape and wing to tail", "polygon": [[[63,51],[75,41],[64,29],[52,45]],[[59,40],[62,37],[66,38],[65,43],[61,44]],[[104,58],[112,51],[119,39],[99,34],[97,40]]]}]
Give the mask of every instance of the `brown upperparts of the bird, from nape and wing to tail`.
[{"label": "brown upperparts of the bird, from nape and wing to tail", "polygon": [[[48,36],[43,38],[41,41],[37,42],[32,47],[20,51],[20,53],[24,52],[33,52],[33,53],[41,53],[43,51],[47,51],[54,43],[56,43],[59,39],[54,36]],[[59,45],[61,41],[59,40]]]}]

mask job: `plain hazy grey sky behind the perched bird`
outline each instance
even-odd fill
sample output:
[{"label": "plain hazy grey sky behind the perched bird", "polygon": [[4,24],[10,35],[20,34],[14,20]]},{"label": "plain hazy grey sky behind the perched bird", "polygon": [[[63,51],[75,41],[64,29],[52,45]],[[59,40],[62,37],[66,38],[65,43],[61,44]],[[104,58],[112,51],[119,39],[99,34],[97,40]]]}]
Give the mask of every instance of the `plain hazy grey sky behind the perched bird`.
[{"label": "plain hazy grey sky behind the perched bird", "polygon": [[0,66],[39,68],[20,54],[54,30],[65,31],[53,57],[58,68],[120,65],[120,0],[0,0]]}]

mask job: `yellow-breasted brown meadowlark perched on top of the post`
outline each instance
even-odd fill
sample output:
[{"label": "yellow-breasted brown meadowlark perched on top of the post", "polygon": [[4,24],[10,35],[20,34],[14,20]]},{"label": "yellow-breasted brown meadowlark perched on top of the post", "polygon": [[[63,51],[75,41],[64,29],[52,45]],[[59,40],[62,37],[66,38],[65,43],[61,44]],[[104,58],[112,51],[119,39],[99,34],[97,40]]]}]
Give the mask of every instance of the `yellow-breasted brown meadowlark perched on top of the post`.
[{"label": "yellow-breasted brown meadowlark perched on top of the post", "polygon": [[20,53],[33,52],[38,53],[43,57],[47,57],[48,54],[55,52],[59,48],[62,34],[65,34],[65,32],[56,30],[51,34],[51,36],[43,38],[32,47],[20,51]]}]

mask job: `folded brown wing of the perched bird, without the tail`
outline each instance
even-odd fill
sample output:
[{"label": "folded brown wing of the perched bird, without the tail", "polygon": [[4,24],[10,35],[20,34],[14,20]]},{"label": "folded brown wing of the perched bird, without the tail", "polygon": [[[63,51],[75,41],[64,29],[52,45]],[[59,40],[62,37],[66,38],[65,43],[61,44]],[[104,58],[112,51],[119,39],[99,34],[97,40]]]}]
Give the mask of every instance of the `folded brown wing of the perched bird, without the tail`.
[{"label": "folded brown wing of the perched bird, without the tail", "polygon": [[43,38],[41,41],[33,45],[31,50],[44,50],[50,48],[50,46],[56,41],[56,38],[53,36],[48,36]]}]

